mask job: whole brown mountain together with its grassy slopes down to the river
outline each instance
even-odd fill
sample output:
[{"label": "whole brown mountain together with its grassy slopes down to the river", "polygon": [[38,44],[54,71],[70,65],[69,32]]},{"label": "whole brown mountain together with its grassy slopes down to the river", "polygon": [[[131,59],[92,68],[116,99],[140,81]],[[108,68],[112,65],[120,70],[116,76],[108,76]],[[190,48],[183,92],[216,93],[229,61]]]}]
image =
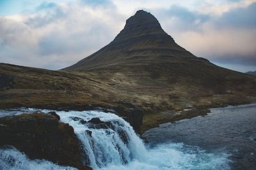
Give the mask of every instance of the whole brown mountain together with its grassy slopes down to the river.
[{"label": "whole brown mountain together with its grassy slopes down to the river", "polygon": [[138,130],[143,121],[142,131],[205,114],[205,108],[256,101],[255,76],[196,57],[143,10],[109,45],[70,67],[0,64],[0,80],[0,108],[108,108]]}]

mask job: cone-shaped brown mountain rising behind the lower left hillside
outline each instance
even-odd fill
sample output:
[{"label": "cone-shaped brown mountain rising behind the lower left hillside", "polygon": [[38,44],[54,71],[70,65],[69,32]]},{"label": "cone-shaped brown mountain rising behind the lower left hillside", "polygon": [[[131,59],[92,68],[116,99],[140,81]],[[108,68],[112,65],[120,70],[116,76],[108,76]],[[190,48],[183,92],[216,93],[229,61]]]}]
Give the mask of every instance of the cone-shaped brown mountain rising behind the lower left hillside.
[{"label": "cone-shaped brown mountain rising behind the lower left hillside", "polygon": [[153,112],[237,104],[256,95],[255,78],[196,57],[143,10],[126,21],[109,45],[64,70],[112,81],[115,90],[131,97],[129,103]]}]

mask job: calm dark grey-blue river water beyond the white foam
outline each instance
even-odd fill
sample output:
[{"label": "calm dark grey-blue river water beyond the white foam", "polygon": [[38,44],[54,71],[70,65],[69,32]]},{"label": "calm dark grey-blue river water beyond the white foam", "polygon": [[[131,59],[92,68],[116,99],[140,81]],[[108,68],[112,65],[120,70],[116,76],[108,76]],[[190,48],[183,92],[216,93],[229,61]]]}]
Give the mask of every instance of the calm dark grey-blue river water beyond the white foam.
[{"label": "calm dark grey-blue river water beyond the white foam", "polygon": [[230,154],[231,169],[256,169],[256,104],[211,109],[205,117],[160,125],[143,134],[150,145],[184,143]]}]

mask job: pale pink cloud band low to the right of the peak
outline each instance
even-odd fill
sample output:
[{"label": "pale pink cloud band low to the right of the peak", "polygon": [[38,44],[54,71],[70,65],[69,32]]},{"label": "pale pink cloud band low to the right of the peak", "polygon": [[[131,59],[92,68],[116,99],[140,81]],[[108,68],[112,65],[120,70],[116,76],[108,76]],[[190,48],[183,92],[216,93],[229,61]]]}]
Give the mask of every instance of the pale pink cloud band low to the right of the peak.
[{"label": "pale pink cloud band low to the right of the peak", "polygon": [[256,29],[215,29],[209,25],[203,30],[204,32],[183,32],[179,36],[180,43],[188,50],[193,49],[196,55],[212,60],[230,56],[229,62],[236,62],[235,59],[240,57],[244,64],[248,64],[248,58],[256,58]]}]

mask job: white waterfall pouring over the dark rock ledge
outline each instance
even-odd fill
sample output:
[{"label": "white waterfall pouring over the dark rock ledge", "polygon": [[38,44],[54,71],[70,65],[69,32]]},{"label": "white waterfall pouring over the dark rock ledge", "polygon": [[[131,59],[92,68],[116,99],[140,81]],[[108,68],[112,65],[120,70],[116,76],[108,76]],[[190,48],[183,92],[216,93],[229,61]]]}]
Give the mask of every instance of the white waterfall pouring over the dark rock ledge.
[{"label": "white waterfall pouring over the dark rock ledge", "polygon": [[[113,113],[101,111],[59,111],[61,122],[70,124],[81,141],[84,160],[94,169],[108,164],[124,165],[132,160],[144,161],[147,150],[131,125]],[[98,119],[97,119],[98,118]],[[90,120],[98,121],[97,124]],[[87,123],[84,123],[87,122]]]}]

